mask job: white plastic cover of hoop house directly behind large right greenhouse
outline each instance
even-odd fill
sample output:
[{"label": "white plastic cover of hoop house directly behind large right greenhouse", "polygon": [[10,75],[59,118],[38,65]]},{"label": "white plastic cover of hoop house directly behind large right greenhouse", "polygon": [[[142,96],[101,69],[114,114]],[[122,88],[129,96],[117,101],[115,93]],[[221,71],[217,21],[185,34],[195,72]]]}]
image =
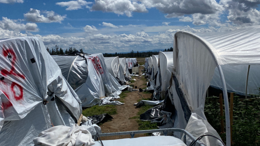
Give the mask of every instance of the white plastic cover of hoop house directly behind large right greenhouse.
[{"label": "white plastic cover of hoop house directly behind large right greenhouse", "polygon": [[159,64],[161,74],[161,91],[166,91],[166,89],[170,86],[170,78],[173,68],[173,53],[160,51]]}]

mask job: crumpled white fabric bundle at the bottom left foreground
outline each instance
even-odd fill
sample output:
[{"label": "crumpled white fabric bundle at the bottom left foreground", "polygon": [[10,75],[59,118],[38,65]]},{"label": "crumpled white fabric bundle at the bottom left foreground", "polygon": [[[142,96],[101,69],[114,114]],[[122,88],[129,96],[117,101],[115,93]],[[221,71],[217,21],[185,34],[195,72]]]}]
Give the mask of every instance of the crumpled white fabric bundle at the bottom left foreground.
[{"label": "crumpled white fabric bundle at the bottom left foreground", "polygon": [[77,124],[72,127],[49,128],[42,131],[33,141],[36,146],[89,146],[95,144],[90,132]]}]

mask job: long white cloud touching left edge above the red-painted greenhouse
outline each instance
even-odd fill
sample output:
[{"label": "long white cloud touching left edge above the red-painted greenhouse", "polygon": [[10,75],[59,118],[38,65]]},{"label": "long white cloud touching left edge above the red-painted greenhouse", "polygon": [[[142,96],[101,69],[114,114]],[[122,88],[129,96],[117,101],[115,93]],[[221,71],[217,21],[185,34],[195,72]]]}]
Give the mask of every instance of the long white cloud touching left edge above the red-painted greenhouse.
[{"label": "long white cloud touching left edge above the red-painted greenhouse", "polygon": [[35,23],[20,23],[21,20],[11,20],[7,17],[2,17],[0,20],[0,27],[5,30],[14,31],[39,31]]}]

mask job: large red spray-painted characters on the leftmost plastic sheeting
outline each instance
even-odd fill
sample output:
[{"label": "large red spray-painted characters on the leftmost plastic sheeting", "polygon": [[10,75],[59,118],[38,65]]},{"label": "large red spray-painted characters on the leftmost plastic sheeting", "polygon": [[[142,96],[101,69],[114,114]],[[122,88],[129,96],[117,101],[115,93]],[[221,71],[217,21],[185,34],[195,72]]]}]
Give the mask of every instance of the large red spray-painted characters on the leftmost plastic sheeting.
[{"label": "large red spray-painted characters on the leftmost plastic sheeting", "polygon": [[[11,67],[10,71],[8,71],[8,70],[6,70],[6,69],[2,69],[2,70],[1,70],[1,74],[2,74],[3,76],[7,76],[7,75],[12,74],[12,75],[14,75],[14,76],[18,76],[18,77],[20,77],[20,78],[25,79],[25,76],[24,76],[24,75],[22,75],[22,74],[20,74],[20,73],[14,72],[14,71],[15,71],[14,64],[15,64],[15,61],[16,61],[16,55],[15,55],[14,51],[13,51],[12,49],[10,49],[10,48],[8,48],[8,49],[4,49],[4,48],[3,48],[3,55],[4,55],[4,57],[7,57],[8,54],[10,54],[10,55],[12,56],[12,60],[11,60],[11,65],[12,65],[12,67]],[[6,83],[5,83],[4,81],[2,81],[2,83],[3,83],[3,85],[6,85]],[[14,90],[14,87],[17,87],[18,90],[20,91],[20,93],[17,93],[17,94],[16,94],[16,91]],[[18,83],[12,82],[10,89],[11,89],[12,94],[13,94],[13,97],[14,97],[14,99],[15,99],[16,101],[23,99],[23,87],[22,87],[21,85],[19,85]],[[17,90],[17,91],[18,91],[18,90]],[[6,97],[8,98],[8,100],[9,100],[8,102],[2,102],[2,104],[3,104],[3,109],[8,109],[9,107],[13,106],[13,104],[10,102],[10,96],[8,95],[8,93],[7,93],[7,92],[4,92],[4,91],[2,91],[2,92],[5,94],[5,96],[6,96]]]}]

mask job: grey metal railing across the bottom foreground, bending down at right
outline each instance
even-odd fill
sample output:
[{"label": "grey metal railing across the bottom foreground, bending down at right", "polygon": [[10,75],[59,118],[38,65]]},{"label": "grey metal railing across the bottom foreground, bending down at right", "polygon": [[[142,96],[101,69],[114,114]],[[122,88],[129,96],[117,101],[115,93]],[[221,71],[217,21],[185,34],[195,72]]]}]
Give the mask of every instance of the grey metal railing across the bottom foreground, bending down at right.
[{"label": "grey metal railing across the bottom foreground, bending down at right", "polygon": [[[167,132],[181,132],[184,134],[183,142],[187,145],[186,136],[188,136],[192,141],[196,141],[196,138],[192,136],[188,131],[184,129],[178,128],[168,128],[168,129],[155,129],[155,130],[140,130],[140,131],[126,131],[126,132],[114,132],[114,133],[101,133],[99,134],[100,137],[102,136],[118,136],[118,135],[130,135],[131,138],[134,138],[135,134],[144,134],[144,133],[154,133],[154,132],[161,132],[164,136],[167,135]],[[92,135],[93,139],[97,139],[97,134]],[[196,141],[195,146],[205,146],[200,141]]]}]

